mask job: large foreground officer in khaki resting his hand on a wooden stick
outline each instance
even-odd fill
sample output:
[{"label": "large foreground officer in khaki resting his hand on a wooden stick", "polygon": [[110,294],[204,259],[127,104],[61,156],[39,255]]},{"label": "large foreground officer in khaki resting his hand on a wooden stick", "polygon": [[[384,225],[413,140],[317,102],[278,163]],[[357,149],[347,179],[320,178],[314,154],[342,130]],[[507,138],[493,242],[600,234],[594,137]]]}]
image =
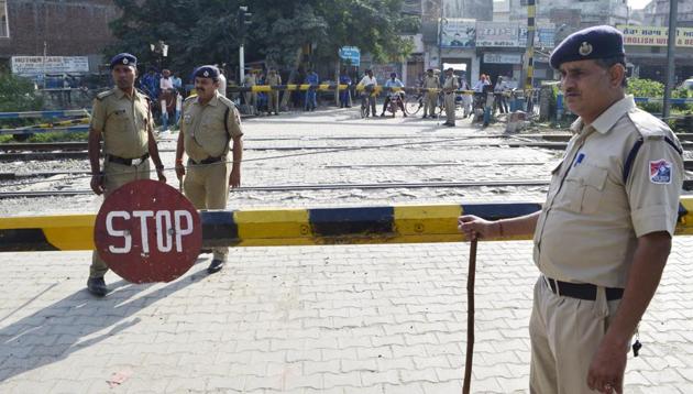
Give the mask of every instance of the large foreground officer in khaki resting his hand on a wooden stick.
[{"label": "large foreground officer in khaki resting his hand on a wooden stick", "polygon": [[[671,248],[684,177],[666,123],[625,95],[623,35],[594,26],[551,54],[580,118],[540,212],[488,222],[463,216],[468,237],[534,231],[529,322],[532,393],[623,393],[631,337]],[[634,346],[635,350],[635,346]]]}]

